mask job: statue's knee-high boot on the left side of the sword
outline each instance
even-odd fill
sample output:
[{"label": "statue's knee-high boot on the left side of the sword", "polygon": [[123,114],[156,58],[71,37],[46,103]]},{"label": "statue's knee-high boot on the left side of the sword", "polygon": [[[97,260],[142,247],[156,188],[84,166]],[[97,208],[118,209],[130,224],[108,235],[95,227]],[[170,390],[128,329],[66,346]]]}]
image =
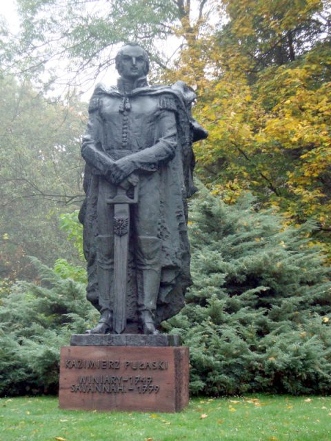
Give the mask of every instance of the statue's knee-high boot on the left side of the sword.
[{"label": "statue's knee-high boot on the left side of the sword", "polygon": [[97,326],[88,329],[86,334],[110,334],[112,331],[113,249],[112,236],[98,236],[97,274],[101,317]]}]

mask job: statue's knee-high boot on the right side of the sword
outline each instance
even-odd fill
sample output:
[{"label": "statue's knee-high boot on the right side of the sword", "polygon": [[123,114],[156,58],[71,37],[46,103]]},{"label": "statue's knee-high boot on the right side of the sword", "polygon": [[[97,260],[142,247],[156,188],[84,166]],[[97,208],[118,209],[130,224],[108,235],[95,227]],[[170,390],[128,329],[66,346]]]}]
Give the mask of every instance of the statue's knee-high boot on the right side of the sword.
[{"label": "statue's knee-high boot on the right side of the sword", "polygon": [[139,237],[136,256],[138,307],[143,334],[159,334],[155,311],[161,280],[161,240]]}]

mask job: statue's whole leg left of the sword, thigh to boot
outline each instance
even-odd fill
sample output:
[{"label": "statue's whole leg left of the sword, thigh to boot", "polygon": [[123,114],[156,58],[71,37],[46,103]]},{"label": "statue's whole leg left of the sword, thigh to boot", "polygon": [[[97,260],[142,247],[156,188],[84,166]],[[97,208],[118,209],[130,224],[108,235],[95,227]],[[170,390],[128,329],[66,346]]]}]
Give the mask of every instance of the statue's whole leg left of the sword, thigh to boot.
[{"label": "statue's whole leg left of the sword, thigh to boot", "polygon": [[108,334],[112,331],[112,300],[114,285],[114,208],[106,200],[114,195],[112,186],[104,180],[99,183],[97,203],[97,279],[99,291],[99,323],[89,334]]}]

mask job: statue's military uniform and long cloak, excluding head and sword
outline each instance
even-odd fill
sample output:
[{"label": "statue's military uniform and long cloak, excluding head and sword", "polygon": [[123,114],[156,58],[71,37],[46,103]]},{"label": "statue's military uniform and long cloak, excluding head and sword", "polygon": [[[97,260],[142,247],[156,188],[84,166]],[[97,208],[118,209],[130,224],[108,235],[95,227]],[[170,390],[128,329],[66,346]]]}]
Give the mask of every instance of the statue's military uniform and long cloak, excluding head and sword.
[{"label": "statue's military uniform and long cloak, excluding head and sword", "polygon": [[[88,298],[101,312],[112,309],[114,208],[106,201],[116,194],[119,183],[128,185],[138,176],[139,202],[130,213],[138,309],[154,316],[159,302],[163,309],[168,304],[168,309],[177,311],[190,280],[185,209],[188,178],[183,163],[184,145],[192,143],[192,136],[189,139],[190,118],[183,97],[171,88],[150,88],[146,79],[126,91],[120,79],[118,88],[97,86],[89,114],[81,149],[88,168],[81,215],[90,267]],[[181,127],[181,133],[180,125],[186,127]],[[119,161],[118,168],[114,161]],[[171,291],[177,296],[177,306],[169,305]],[[159,320],[172,314],[159,314]]]}]

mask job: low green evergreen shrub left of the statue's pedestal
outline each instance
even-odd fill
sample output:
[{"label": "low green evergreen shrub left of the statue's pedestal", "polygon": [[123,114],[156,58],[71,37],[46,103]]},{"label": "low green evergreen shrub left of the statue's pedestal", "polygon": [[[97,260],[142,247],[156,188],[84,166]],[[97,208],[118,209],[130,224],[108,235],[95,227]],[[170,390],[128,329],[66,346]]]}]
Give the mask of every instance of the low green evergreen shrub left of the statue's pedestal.
[{"label": "low green evergreen shrub left of the statue's pedestal", "polygon": [[60,347],[96,320],[82,268],[64,259],[54,269],[31,260],[39,279],[18,282],[1,298],[1,395],[56,393]]}]

